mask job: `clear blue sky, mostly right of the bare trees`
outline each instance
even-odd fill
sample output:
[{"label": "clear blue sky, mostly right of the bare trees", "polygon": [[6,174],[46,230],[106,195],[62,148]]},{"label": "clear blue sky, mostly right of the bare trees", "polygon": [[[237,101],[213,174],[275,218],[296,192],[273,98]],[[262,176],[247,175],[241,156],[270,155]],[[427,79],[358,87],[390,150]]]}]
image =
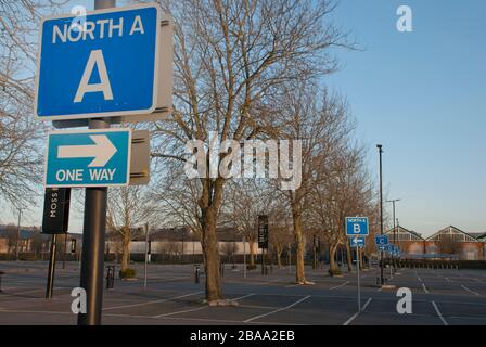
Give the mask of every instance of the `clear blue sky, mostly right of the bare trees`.
[{"label": "clear blue sky, mostly right of the bare trees", "polygon": [[[401,4],[412,33],[396,29]],[[400,224],[425,235],[448,224],[486,231],[485,15],[484,0],[342,0],[333,14],[362,51],[337,51],[342,69],[323,81],[347,98],[376,181],[383,144],[385,196],[401,198]],[[27,222],[40,223],[34,215]],[[80,231],[82,217],[72,217]]]}]

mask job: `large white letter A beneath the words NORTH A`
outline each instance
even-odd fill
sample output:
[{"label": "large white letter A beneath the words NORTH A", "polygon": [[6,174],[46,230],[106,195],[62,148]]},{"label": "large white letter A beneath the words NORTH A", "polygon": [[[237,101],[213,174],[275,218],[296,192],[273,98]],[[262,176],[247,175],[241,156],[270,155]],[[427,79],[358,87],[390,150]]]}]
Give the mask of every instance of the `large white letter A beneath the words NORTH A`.
[{"label": "large white letter A beneath the words NORTH A", "polygon": [[[93,73],[94,64],[98,66],[98,74],[100,75],[100,82],[89,85],[89,79]],[[79,82],[78,91],[74,98],[74,102],[81,102],[85,93],[103,92],[104,100],[113,100],[112,86],[110,85],[108,74],[106,73],[106,65],[101,50],[91,51],[85,72],[82,73],[81,81]]]}]

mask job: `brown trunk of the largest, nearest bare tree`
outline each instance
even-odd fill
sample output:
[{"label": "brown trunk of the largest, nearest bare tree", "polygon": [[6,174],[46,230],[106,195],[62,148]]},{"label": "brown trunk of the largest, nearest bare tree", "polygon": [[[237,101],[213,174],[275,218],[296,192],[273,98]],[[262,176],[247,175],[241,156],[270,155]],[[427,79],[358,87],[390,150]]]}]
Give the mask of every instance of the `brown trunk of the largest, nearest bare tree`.
[{"label": "brown trunk of the largest, nearest bare tree", "polygon": [[219,250],[216,239],[216,206],[201,208],[204,239],[204,267],[206,272],[206,300],[208,303],[222,298],[219,273]]}]

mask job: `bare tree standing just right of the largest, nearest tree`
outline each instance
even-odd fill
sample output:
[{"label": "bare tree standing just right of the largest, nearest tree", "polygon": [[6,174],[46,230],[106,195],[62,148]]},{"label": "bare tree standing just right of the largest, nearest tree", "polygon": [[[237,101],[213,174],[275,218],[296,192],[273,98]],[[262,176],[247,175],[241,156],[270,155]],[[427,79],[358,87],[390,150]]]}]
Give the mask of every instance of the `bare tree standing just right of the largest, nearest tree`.
[{"label": "bare tree standing just right of the largest, nearest tree", "polygon": [[[299,83],[287,92],[285,110],[292,123],[281,138],[302,143],[302,182],[285,194],[291,206],[296,243],[296,283],[306,284],[304,256],[306,214],[318,187],[335,176],[334,163],[347,147],[354,128],[346,103],[312,83]],[[310,226],[314,228],[314,226]]]}]

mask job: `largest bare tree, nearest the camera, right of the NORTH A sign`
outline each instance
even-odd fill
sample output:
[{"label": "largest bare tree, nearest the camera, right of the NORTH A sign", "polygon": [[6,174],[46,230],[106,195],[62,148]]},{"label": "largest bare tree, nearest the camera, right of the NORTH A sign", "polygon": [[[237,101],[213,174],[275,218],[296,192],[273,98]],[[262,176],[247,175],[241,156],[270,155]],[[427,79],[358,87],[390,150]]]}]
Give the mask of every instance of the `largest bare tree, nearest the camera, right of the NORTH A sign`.
[{"label": "largest bare tree, nearest the camera, right of the NORTH A sign", "polygon": [[[220,142],[272,133],[280,124],[268,107],[282,86],[334,69],[327,54],[342,44],[341,35],[324,24],[330,1],[241,0],[162,1],[175,21],[174,123],[159,124],[177,152],[159,153],[184,159],[188,140],[206,141],[216,131]],[[220,154],[219,160],[228,155]],[[206,297],[222,298],[216,240],[218,210],[226,178],[200,177],[202,243]]]}]

